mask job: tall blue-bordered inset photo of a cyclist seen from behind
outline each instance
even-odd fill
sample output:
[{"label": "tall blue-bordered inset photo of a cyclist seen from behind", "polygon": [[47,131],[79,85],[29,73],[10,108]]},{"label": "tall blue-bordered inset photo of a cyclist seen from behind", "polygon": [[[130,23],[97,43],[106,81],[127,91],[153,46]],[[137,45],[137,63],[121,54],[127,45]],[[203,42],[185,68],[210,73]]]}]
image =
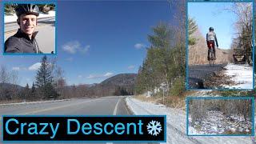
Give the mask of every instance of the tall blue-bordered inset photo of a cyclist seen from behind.
[{"label": "tall blue-bordered inset photo of a cyclist seen from behind", "polygon": [[254,0],[189,0],[186,9],[186,90],[253,90]]}]

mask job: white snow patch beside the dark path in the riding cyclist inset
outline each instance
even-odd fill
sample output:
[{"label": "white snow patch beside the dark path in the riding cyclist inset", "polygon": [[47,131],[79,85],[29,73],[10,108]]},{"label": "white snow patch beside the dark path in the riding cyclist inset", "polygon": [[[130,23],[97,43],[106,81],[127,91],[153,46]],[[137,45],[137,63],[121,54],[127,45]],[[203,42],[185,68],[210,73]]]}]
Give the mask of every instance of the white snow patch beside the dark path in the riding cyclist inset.
[{"label": "white snow patch beside the dark path in the riding cyclist inset", "polygon": [[253,89],[253,67],[249,65],[235,65],[229,63],[225,66],[224,74],[231,77],[235,82],[234,86],[226,86],[225,88],[234,89]]}]

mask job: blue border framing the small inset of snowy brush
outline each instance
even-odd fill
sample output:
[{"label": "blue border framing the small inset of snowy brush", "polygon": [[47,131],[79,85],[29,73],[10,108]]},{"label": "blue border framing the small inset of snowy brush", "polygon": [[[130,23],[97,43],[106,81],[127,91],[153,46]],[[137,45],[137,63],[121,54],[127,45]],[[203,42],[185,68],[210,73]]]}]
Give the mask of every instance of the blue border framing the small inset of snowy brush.
[{"label": "blue border framing the small inset of snowy brush", "polygon": [[[192,99],[204,99],[204,100],[209,100],[209,99],[222,99],[222,100],[234,100],[234,99],[250,99],[252,102],[252,110],[251,110],[251,115],[252,115],[252,128],[251,128],[251,134],[189,134],[189,102]],[[186,98],[186,136],[254,136],[255,131],[254,131],[254,97],[187,97]]]}]

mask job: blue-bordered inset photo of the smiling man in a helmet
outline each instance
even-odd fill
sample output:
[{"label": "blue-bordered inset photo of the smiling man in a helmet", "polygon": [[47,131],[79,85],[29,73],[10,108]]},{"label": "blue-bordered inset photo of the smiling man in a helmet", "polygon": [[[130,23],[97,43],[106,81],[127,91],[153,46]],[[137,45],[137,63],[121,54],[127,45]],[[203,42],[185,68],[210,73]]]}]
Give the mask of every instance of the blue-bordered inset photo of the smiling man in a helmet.
[{"label": "blue-bordered inset photo of the smiling man in a helmet", "polygon": [[3,54],[57,54],[57,2],[3,2]]}]

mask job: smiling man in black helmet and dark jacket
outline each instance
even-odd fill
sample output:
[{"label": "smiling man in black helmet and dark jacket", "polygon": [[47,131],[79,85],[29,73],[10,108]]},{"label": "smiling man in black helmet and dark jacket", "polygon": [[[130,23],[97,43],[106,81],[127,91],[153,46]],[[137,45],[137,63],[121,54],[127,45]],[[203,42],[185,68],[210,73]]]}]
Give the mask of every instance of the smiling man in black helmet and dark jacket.
[{"label": "smiling man in black helmet and dark jacket", "polygon": [[18,32],[5,42],[6,53],[42,53],[39,50],[34,31],[38,26],[39,8],[34,4],[18,4],[15,9],[18,17]]}]

